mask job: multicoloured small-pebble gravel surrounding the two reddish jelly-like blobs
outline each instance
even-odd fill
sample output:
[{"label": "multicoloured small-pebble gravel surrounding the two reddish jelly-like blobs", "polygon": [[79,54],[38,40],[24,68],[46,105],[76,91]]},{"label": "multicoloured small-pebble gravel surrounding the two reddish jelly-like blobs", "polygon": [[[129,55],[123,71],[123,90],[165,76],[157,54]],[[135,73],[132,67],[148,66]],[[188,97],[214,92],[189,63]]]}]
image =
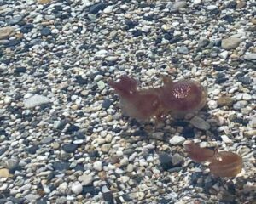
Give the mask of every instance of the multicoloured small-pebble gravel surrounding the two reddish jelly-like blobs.
[{"label": "multicoloured small-pebble gravel surrounding the two reddish jelly-like blobs", "polygon": [[[0,0],[0,203],[253,202],[255,6]],[[207,105],[137,122],[108,86],[123,74],[193,79]],[[242,173],[212,177],[186,140],[237,152]]]}]

